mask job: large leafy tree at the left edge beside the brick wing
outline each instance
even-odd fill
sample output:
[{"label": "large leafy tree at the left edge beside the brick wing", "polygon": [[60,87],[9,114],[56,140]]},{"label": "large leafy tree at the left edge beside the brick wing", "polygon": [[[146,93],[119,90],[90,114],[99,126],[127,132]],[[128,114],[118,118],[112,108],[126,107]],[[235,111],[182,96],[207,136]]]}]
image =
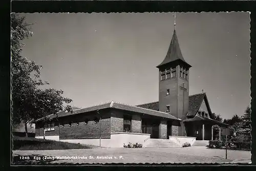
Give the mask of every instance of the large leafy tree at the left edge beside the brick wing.
[{"label": "large leafy tree at the left edge beside the brick wing", "polygon": [[[72,100],[62,97],[62,90],[40,89],[49,84],[40,79],[42,66],[20,55],[24,44],[22,40],[33,35],[25,22],[25,17],[11,14],[11,80],[12,80],[12,123],[27,124],[39,118],[46,118],[66,108]],[[68,106],[68,105],[67,105]]]}]

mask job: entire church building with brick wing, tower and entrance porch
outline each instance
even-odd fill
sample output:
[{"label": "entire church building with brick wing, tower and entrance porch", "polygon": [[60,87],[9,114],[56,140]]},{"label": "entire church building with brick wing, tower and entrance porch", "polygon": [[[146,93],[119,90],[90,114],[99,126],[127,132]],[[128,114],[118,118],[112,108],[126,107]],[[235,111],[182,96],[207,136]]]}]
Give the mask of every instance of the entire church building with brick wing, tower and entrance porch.
[{"label": "entire church building with brick wing, tower and entrance porch", "polygon": [[[213,139],[212,126],[228,126],[212,119],[206,93],[189,96],[190,65],[184,60],[174,30],[159,69],[159,101],[129,105],[110,101],[50,115],[36,121],[36,137],[105,147],[142,143],[150,139],[185,141]],[[221,132],[220,132],[221,133]]]}]

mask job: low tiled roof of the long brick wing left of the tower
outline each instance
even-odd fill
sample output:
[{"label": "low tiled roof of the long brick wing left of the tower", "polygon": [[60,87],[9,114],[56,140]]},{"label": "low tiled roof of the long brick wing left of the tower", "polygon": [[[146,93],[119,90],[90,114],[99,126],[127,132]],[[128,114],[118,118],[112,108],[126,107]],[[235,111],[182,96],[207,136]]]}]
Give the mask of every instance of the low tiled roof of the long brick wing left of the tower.
[{"label": "low tiled roof of the long brick wing left of the tower", "polygon": [[[141,108],[139,106],[133,106],[133,105],[124,104],[124,103],[120,103],[120,102],[116,102],[116,101],[110,101],[110,102],[106,102],[106,103],[102,103],[102,104],[89,106],[87,108],[77,109],[77,110],[74,110],[73,113],[61,111],[58,113],[58,117],[71,116],[71,115],[87,113],[87,112],[92,112],[92,111],[107,109],[107,108],[114,108],[114,109],[120,109],[120,110],[126,110],[126,111],[143,113],[143,114],[147,114],[147,115],[163,117],[163,118],[167,118],[167,119],[180,120],[180,119],[174,117],[173,115],[170,115],[165,112],[159,112],[159,111],[155,111],[152,109],[145,109],[145,108]],[[49,115],[48,117],[55,118],[56,115]],[[40,121],[42,119],[43,118],[40,118],[40,119],[37,119],[36,121]]]}]

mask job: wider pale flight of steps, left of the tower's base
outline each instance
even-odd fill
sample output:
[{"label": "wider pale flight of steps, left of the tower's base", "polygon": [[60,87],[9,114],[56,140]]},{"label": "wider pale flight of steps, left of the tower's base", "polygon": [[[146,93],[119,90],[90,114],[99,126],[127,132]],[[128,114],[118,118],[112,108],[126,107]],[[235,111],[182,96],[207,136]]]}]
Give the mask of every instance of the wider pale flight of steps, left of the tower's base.
[{"label": "wider pale flight of steps, left of the tower's base", "polygon": [[169,139],[148,139],[146,148],[169,148],[169,147],[181,147],[176,142]]}]

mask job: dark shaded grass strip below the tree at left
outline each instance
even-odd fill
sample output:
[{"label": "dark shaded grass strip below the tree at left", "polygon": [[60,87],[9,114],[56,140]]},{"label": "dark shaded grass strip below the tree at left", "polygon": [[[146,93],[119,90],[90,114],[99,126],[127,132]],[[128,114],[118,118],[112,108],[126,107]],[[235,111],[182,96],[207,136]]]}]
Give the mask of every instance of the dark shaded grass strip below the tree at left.
[{"label": "dark shaded grass strip below the tree at left", "polygon": [[44,140],[30,137],[13,137],[13,150],[48,150],[48,149],[89,149],[89,145]]}]

